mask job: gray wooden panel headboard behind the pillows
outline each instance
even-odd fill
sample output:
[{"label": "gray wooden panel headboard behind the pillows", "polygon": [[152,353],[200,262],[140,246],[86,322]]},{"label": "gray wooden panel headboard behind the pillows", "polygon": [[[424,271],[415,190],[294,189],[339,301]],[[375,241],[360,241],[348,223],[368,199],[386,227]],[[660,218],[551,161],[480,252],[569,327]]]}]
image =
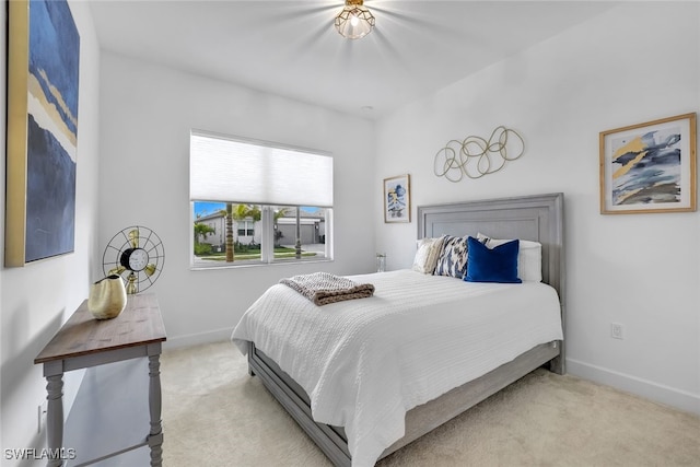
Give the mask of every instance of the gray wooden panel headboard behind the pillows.
[{"label": "gray wooden panel headboard behind the pillows", "polygon": [[[561,192],[418,207],[418,237],[471,235],[522,238],[542,244],[542,281],[563,308],[564,245]],[[563,317],[563,316],[562,316]]]}]

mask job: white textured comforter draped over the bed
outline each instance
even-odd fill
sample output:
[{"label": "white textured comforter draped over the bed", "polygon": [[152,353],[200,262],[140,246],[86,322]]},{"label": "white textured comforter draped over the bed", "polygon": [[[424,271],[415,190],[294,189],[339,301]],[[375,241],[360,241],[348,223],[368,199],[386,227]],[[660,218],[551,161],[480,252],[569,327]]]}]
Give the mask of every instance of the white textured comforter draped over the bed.
[{"label": "white textured comforter draped over the bed", "polygon": [[311,397],[314,420],[345,427],[354,467],[404,435],[405,413],[530,348],[563,339],[551,287],[472,283],[411,270],[350,277],[375,294],[324,306],[276,284],[232,340],[253,341]]}]

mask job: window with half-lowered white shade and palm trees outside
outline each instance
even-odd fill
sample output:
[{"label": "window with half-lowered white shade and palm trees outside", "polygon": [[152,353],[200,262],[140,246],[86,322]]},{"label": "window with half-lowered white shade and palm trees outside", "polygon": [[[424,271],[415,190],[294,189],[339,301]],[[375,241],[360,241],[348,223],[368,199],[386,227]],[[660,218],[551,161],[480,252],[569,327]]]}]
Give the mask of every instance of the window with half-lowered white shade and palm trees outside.
[{"label": "window with half-lowered white shade and palm trees outside", "polygon": [[331,258],[332,157],[192,131],[196,268]]}]

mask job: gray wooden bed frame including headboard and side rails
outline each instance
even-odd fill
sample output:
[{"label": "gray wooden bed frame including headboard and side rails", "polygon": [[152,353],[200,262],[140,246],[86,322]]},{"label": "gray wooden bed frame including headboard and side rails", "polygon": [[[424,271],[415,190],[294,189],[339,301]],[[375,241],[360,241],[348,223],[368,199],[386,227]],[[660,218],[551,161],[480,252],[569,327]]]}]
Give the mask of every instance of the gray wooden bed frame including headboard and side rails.
[{"label": "gray wooden bed frame including headboard and side rails", "polygon": [[[564,323],[563,195],[538,195],[418,207],[418,237],[483,233],[494,238],[522,238],[542,244],[542,281],[559,293]],[[532,371],[548,366],[564,373],[562,341],[542,343],[486,375],[418,406],[406,413],[406,434],[386,448],[385,457],[445,423]],[[341,427],[313,420],[310,398],[302,387],[265,353],[248,348],[248,367],[296,420],[336,466],[350,466]]]}]

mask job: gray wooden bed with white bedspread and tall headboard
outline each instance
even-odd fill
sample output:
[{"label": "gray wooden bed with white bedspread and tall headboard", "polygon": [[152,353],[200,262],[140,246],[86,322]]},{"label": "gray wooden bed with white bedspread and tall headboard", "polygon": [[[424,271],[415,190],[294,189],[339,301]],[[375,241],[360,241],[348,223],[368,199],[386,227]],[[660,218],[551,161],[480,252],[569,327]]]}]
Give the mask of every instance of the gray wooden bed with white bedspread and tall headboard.
[{"label": "gray wooden bed with white bedspread and tall headboard", "polygon": [[[244,353],[247,353],[250,374],[260,377],[268,390],[335,465],[373,465],[377,459],[401,448],[540,366],[547,366],[550,371],[559,374],[564,373],[563,195],[538,195],[418,208],[418,238],[436,238],[443,235],[470,235],[476,237],[479,233],[487,234],[492,238],[517,238],[541,244],[542,283],[530,282],[520,285],[476,284],[477,287],[471,289],[476,292],[469,293],[476,293],[476,302],[474,303],[480,305],[472,306],[472,308],[481,310],[482,305],[486,306],[487,302],[483,297],[486,295],[501,296],[500,289],[515,294],[509,299],[503,299],[506,301],[505,303],[528,302],[530,294],[544,293],[546,297],[548,296],[546,299],[549,301],[546,306],[548,311],[540,313],[539,308],[545,308],[545,306],[537,305],[534,307],[532,315],[524,315],[525,317],[521,318],[524,320],[517,326],[524,329],[528,325],[528,320],[535,320],[535,316],[538,314],[549,314],[547,319],[551,320],[551,308],[553,307],[553,313],[558,319],[556,326],[559,326],[559,334],[551,329],[551,325],[547,325],[545,326],[547,329],[541,332],[539,330],[533,330],[532,332],[528,330],[527,332],[512,332],[512,335],[509,335],[504,334],[508,331],[501,327],[493,328],[493,326],[501,325],[489,324],[488,326],[491,326],[491,328],[487,328],[483,327],[486,325],[481,322],[476,322],[465,329],[480,329],[479,335],[492,336],[491,343],[494,346],[493,350],[489,350],[486,354],[481,352],[480,357],[477,355],[479,352],[474,350],[465,350],[463,354],[463,346],[459,346],[458,350],[454,350],[454,346],[450,347],[445,343],[446,347],[442,349],[440,346],[443,340],[447,340],[442,339],[442,336],[439,336],[440,340],[428,340],[428,336],[421,336],[419,339],[417,338],[419,335],[416,332],[421,325],[416,324],[417,322],[415,323],[415,319],[411,318],[411,316],[418,316],[419,313],[411,312],[411,314],[406,312],[408,315],[404,315],[404,311],[400,313],[390,312],[390,310],[394,310],[392,308],[394,302],[389,302],[389,300],[393,300],[389,295],[399,296],[402,293],[413,293],[412,296],[408,296],[404,301],[416,304],[420,302],[423,291],[428,290],[424,288],[440,291],[434,300],[428,301],[435,302],[434,304],[425,302],[418,305],[422,306],[420,308],[421,313],[423,308],[429,310],[431,317],[443,313],[443,310],[445,310],[444,316],[440,315],[439,319],[443,327],[439,329],[448,332],[456,329],[456,327],[454,324],[442,319],[453,319],[452,316],[455,313],[446,310],[454,307],[454,303],[451,305],[447,302],[456,303],[457,300],[463,300],[462,295],[455,295],[463,293],[462,289],[456,290],[460,288],[463,282],[454,278],[422,277],[423,275],[415,271],[389,271],[351,277],[357,281],[375,283],[375,296],[347,301],[342,304],[316,306],[315,308],[315,305],[310,305],[311,302],[301,294],[285,285],[277,284],[252,305],[250,310],[244,315],[242,323],[236,326],[232,340]],[[405,283],[408,290],[413,290],[413,292],[401,292],[395,288],[397,283]],[[499,289],[499,293],[492,293],[493,289]],[[268,293],[270,296],[267,296]],[[547,295],[548,293],[553,299]],[[442,299],[438,300],[438,296]],[[383,302],[384,300],[386,302]],[[553,304],[551,303],[552,300]],[[272,320],[276,323],[280,320],[284,323],[279,325],[277,329],[265,329],[264,332],[266,334],[260,334],[262,332],[260,328],[265,323],[264,318],[243,324],[248,314],[253,314],[253,312],[261,307],[262,302],[266,302],[265,305],[267,306],[269,301],[277,301],[279,310],[289,308],[290,313],[294,313],[298,308],[300,311],[303,310],[299,313],[300,317],[294,318],[299,319],[299,322],[284,322],[287,318],[276,318],[276,316],[282,316],[281,314],[272,315]],[[385,303],[389,304],[388,308],[384,306]],[[327,308],[328,306],[332,308]],[[353,307],[351,312],[348,311],[349,306]],[[428,308],[429,306],[432,306],[432,308]],[[503,306],[505,305],[495,305],[494,310],[500,310]],[[320,312],[320,308],[324,308],[324,311]],[[376,314],[380,308],[389,310],[388,315],[400,315],[400,326],[406,327],[401,327],[400,332],[393,332],[392,330],[397,326],[395,323],[387,320],[388,318],[384,315],[375,318],[380,316]],[[328,313],[328,310],[331,310],[332,313]],[[370,320],[374,324],[370,327],[371,330],[366,331],[366,336],[358,341],[358,347],[353,348],[352,342],[346,345],[345,337],[335,337],[332,335],[334,331],[324,330],[323,327],[316,329],[316,320],[311,320],[312,317],[310,316],[317,312],[325,313],[325,315],[319,314],[318,316],[325,316],[328,323],[336,319],[336,315],[348,313],[349,316],[370,316]],[[475,313],[477,316],[492,314]],[[269,317],[267,319],[270,322]],[[475,319],[481,318],[477,317]],[[431,319],[431,322],[435,323],[436,319]],[[444,323],[450,324],[444,325]],[[327,324],[324,326],[327,326]],[[422,326],[425,327],[424,324]],[[290,360],[291,357],[288,358],[290,352],[283,348],[283,343],[282,347],[271,343],[273,342],[272,336],[275,334],[287,334],[284,339],[291,342],[298,340],[296,336],[300,334],[312,331],[316,332],[317,346],[308,350],[311,353],[301,363],[300,359]],[[352,331],[351,334],[362,335],[362,332],[365,331]],[[435,332],[433,329],[432,334]],[[523,342],[517,342],[520,350],[515,354],[512,354],[513,350],[510,348],[508,350],[502,349],[501,341],[515,340],[516,335],[520,336],[522,334],[528,336],[533,334],[533,336],[527,337],[527,339],[530,339],[529,341],[525,339]],[[395,337],[395,335],[408,336],[413,339],[411,341],[413,343],[401,343],[400,352],[393,350],[385,352],[386,348],[393,349],[394,342],[398,341],[399,338]],[[268,336],[270,337],[268,338]],[[324,340],[323,336],[334,337]],[[277,337],[282,338],[282,336]],[[430,343],[423,345],[424,342]],[[353,363],[349,366],[342,360],[343,363],[339,364],[339,369],[330,365],[329,362],[335,361],[335,354],[342,353],[338,349],[346,353],[349,352],[349,354],[359,355],[355,360],[362,361],[361,364],[358,363],[355,365]],[[427,349],[432,352],[425,351]],[[267,353],[270,355],[268,357]],[[327,361],[317,365],[318,367],[312,365],[313,361],[320,361],[320,359],[330,354],[334,358],[328,357]],[[385,354],[389,357],[385,357]],[[412,362],[413,360],[411,359],[423,360],[423,364],[429,366],[423,366],[420,372],[410,373],[406,370],[405,362],[408,360]],[[341,362],[340,360],[337,361]],[[469,364],[463,364],[464,362]],[[284,367],[284,371],[282,367]],[[479,369],[472,370],[472,367]],[[445,373],[458,375],[447,377]],[[290,376],[290,374],[295,375],[295,377]],[[319,375],[319,378],[315,378],[316,374]],[[408,374],[416,381],[406,380]],[[425,374],[430,375],[430,377],[422,377]],[[460,380],[463,377],[467,378]],[[440,386],[439,388],[432,387],[433,380]],[[382,389],[371,388],[369,383],[363,383],[370,381],[381,381]],[[401,381],[401,383],[394,384],[396,381]],[[458,383],[455,383],[456,381]],[[451,386],[447,387],[445,385]],[[406,386],[410,386],[411,389],[407,390]],[[330,392],[320,389],[330,389]],[[376,397],[368,399],[365,394],[364,398],[360,398],[360,395],[368,390],[374,390]],[[396,393],[393,394],[392,390]],[[348,394],[346,395],[346,393]],[[384,401],[380,400],[382,393],[387,394],[387,399]],[[435,396],[435,394],[438,395]],[[342,399],[357,400],[354,402],[355,406],[338,405],[336,407],[335,405],[340,404],[339,400]],[[375,399],[378,402],[373,406]],[[392,401],[396,400],[398,402],[393,405]],[[312,411],[314,417],[312,417]],[[397,419],[399,415],[400,420]],[[318,422],[314,418],[323,422]],[[388,428],[381,425],[380,421],[384,423],[384,420],[388,420]],[[346,422],[347,424],[343,424]]]}]

